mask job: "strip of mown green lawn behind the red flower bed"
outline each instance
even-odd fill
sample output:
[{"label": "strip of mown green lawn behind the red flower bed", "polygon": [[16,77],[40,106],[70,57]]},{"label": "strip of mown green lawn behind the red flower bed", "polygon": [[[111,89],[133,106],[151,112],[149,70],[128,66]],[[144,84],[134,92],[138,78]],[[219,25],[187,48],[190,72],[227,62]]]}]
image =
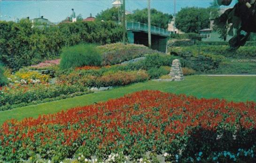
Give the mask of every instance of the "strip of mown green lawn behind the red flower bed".
[{"label": "strip of mown green lawn behind the red flower bed", "polygon": [[193,75],[185,76],[185,80],[179,82],[147,81],[84,96],[30,105],[9,111],[0,111],[0,124],[7,119],[21,120],[26,117],[36,118],[39,114],[55,113],[72,107],[106,101],[110,98],[117,98],[127,93],[144,89],[186,94],[199,98],[225,98],[229,101],[256,101],[256,77]]}]

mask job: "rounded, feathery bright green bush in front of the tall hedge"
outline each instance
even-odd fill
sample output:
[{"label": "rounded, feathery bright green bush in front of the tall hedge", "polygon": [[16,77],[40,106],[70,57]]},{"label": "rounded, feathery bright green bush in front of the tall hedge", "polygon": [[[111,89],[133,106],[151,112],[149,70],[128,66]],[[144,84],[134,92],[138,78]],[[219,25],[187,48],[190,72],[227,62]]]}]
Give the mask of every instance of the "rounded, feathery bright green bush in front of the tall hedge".
[{"label": "rounded, feathery bright green bush in front of the tall hedge", "polygon": [[61,54],[61,69],[83,66],[100,66],[101,54],[92,44],[79,44],[64,48]]}]

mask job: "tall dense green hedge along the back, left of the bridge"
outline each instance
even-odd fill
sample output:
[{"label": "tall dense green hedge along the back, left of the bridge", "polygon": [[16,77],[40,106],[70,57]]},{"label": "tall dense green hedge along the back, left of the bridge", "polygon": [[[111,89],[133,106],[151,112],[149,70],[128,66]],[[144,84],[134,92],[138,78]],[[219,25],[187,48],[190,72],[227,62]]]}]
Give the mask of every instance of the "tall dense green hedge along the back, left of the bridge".
[{"label": "tall dense green hedge along the back, left of the bridge", "polygon": [[80,43],[110,44],[121,40],[122,28],[114,22],[60,23],[38,29],[32,23],[0,21],[0,60],[18,69],[59,56],[64,46]]}]

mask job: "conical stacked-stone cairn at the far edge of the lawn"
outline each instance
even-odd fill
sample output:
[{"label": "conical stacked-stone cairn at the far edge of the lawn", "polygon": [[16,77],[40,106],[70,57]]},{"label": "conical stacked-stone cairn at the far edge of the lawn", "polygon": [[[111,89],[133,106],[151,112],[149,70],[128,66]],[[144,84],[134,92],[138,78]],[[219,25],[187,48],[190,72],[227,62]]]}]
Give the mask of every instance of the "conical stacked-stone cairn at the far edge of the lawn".
[{"label": "conical stacked-stone cairn at the far edge of the lawn", "polygon": [[181,69],[180,61],[178,59],[174,59],[171,64],[170,74],[171,81],[182,81],[184,80],[183,72]]}]

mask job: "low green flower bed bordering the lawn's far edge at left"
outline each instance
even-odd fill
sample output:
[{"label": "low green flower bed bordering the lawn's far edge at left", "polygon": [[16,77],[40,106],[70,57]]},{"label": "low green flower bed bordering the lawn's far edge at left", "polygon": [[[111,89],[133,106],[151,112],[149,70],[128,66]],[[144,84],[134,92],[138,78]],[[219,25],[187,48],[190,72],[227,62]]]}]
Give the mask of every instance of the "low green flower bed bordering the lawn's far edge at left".
[{"label": "low green flower bed bordering the lawn's far edge at left", "polygon": [[86,92],[83,86],[70,84],[28,84],[6,86],[0,90],[0,111],[12,109],[12,105],[35,103],[38,100]]}]

